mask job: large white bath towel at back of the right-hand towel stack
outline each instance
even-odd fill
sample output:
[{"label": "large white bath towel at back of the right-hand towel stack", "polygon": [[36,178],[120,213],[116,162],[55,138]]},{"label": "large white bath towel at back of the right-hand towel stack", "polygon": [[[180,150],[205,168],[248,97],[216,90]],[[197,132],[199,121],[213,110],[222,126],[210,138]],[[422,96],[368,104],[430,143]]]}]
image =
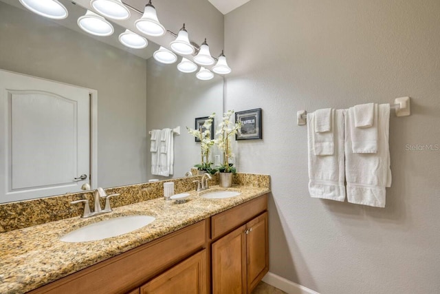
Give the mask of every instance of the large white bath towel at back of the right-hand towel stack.
[{"label": "large white bath towel at back of the right-hand towel stack", "polygon": [[391,187],[390,151],[388,145],[390,105],[377,107],[377,153],[359,154],[353,152],[351,128],[345,117],[345,173],[347,199],[351,203],[372,207],[385,207],[385,187]]}]

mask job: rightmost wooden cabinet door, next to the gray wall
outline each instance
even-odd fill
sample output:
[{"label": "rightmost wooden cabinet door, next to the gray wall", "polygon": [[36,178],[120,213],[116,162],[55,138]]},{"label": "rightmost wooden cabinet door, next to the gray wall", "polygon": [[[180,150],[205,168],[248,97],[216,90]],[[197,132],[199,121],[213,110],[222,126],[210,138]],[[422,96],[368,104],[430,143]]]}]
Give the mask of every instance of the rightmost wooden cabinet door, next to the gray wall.
[{"label": "rightmost wooden cabinet door, next to the gray wall", "polygon": [[251,293],[269,271],[267,212],[248,222],[245,232],[248,293]]}]

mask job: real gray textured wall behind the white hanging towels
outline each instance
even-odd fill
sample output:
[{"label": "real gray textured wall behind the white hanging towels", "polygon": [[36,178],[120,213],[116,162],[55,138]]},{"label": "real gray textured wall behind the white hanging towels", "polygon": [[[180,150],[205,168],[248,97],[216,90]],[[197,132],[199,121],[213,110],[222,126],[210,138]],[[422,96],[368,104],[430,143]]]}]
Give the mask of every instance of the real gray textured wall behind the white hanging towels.
[{"label": "real gray textured wall behind the white hanging towels", "polygon": [[[440,1],[252,0],[225,16],[225,107],[263,108],[240,171],[270,174],[270,271],[320,293],[440,291]],[[310,198],[296,111],[412,97],[391,115],[386,208]]]}]

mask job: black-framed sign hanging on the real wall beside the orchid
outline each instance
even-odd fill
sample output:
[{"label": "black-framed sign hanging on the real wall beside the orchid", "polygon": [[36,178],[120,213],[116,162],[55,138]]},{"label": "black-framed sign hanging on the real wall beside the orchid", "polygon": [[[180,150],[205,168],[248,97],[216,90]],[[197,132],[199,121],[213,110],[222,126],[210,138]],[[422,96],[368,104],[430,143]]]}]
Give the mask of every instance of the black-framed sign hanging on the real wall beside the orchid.
[{"label": "black-framed sign hanging on the real wall beside the orchid", "polygon": [[261,108],[236,112],[235,121],[241,122],[241,128],[235,135],[235,140],[256,140],[263,138]]}]

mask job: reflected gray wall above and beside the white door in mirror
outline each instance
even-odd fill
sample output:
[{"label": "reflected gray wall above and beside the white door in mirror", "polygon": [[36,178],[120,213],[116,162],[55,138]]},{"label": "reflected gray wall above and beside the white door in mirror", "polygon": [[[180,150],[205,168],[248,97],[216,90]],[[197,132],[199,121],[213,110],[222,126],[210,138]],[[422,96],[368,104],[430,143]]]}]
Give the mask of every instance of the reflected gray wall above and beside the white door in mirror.
[{"label": "reflected gray wall above and beside the white door in mirror", "polygon": [[146,181],[144,59],[1,2],[0,40],[0,68],[98,90],[98,185]]}]

